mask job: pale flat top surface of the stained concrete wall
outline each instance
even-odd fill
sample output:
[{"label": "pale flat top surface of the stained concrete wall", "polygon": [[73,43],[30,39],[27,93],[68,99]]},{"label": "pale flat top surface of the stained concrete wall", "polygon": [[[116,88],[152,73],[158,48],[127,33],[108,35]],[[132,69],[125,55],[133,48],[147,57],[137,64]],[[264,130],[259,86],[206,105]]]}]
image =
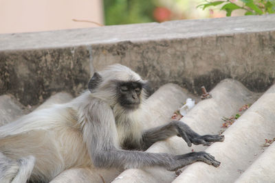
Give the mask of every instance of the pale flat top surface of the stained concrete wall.
[{"label": "pale flat top surface of the stained concrete wall", "polygon": [[274,14],[222,19],[139,23],[54,32],[0,34],[0,51],[78,47],[81,45],[144,42],[148,40],[195,38],[240,33],[273,32]]}]

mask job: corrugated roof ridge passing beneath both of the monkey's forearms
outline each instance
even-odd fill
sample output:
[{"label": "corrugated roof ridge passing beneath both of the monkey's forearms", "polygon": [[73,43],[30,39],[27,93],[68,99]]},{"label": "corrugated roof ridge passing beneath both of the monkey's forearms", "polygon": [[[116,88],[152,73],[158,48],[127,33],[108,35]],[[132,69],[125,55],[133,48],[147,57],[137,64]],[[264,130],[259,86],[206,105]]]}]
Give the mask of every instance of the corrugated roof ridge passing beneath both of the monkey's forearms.
[{"label": "corrugated roof ridge passing beneath both of the monkey's forearms", "polygon": [[[234,91],[234,92],[232,92]],[[238,109],[246,103],[253,103],[256,94],[250,92],[240,82],[234,80],[223,80],[212,91],[212,99],[206,99],[197,103],[181,119],[199,134],[219,134],[222,125],[222,117],[236,114]],[[225,138],[227,138],[225,136]],[[186,142],[177,136],[166,141],[153,144],[147,151],[153,153],[186,154],[195,151],[203,151],[207,147],[192,145],[188,147]],[[221,160],[217,158],[217,160]],[[215,169],[215,168],[214,168]],[[175,172],[150,167],[147,169],[128,169],[121,173],[113,183],[125,182],[172,182],[176,178]],[[198,182],[203,182],[199,180]]]}]

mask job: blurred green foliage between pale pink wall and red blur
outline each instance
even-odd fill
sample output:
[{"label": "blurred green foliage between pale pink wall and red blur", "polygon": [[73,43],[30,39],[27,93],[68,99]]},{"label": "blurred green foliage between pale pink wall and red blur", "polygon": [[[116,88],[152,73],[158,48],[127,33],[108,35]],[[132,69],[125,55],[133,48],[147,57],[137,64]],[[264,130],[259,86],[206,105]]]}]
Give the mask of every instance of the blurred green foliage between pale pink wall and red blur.
[{"label": "blurred green foliage between pale pink wall and red blur", "polygon": [[105,25],[152,22],[154,8],[150,0],[104,0]]}]

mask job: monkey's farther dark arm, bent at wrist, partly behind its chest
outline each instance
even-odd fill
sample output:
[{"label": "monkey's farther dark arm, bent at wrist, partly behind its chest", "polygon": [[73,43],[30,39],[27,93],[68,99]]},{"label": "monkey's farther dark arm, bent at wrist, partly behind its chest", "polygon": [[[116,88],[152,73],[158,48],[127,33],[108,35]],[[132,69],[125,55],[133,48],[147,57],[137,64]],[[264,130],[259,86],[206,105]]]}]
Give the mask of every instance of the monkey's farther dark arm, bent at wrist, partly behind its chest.
[{"label": "monkey's farther dark arm, bent at wrist, partly behind its chest", "polygon": [[153,143],[165,140],[166,138],[175,135],[184,138],[184,141],[186,141],[189,147],[192,145],[192,143],[195,145],[211,145],[213,142],[222,142],[224,140],[224,136],[219,135],[201,136],[194,132],[184,122],[172,121],[167,125],[162,125],[146,130],[144,134],[142,134],[142,149],[146,150],[151,145],[153,145]]}]

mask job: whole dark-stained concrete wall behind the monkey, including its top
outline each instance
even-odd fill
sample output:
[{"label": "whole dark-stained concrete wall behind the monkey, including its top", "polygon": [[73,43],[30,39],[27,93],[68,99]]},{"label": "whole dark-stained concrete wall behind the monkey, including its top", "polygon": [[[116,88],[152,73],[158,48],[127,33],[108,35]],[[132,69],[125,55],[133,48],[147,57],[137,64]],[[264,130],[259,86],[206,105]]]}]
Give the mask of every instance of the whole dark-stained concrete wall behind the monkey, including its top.
[{"label": "whole dark-stained concrete wall behind the monkey, including its top", "polygon": [[275,78],[275,15],[170,21],[0,35],[0,95],[34,105],[76,95],[97,70],[119,62],[151,80],[200,92],[226,77],[254,91]]}]

